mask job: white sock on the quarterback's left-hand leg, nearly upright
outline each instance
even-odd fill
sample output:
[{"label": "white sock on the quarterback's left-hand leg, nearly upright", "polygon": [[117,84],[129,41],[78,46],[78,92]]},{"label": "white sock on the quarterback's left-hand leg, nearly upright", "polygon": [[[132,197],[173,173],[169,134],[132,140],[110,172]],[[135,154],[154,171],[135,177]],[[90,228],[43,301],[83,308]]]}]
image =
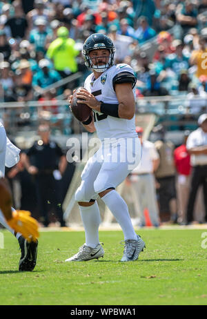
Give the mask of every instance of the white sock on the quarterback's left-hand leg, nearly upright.
[{"label": "white sock on the quarterback's left-hand leg, nearly upright", "polygon": [[99,244],[99,224],[101,222],[97,201],[91,206],[79,206],[86,234],[86,245],[95,248]]}]

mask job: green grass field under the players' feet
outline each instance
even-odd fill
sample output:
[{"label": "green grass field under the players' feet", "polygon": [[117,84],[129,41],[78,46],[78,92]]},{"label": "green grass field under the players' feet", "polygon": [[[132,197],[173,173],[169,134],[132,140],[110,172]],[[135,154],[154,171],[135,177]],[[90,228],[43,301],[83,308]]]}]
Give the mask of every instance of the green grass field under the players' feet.
[{"label": "green grass field under the players' feet", "polygon": [[[119,262],[121,231],[100,231],[104,258],[64,262],[83,232],[41,233],[37,266],[19,272],[19,246],[7,231],[0,249],[0,305],[207,305],[207,230],[141,230],[136,262]],[[206,234],[207,235],[207,234]]]}]

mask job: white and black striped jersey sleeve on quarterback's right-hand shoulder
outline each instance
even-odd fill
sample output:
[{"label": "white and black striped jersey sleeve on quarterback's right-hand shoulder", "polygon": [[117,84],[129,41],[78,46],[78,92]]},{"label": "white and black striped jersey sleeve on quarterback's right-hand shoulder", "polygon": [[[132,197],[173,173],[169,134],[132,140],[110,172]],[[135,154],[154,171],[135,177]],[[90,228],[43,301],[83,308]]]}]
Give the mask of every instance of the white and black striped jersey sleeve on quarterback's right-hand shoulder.
[{"label": "white and black striped jersey sleeve on quarterback's right-hand shoulder", "polygon": [[128,64],[117,64],[112,77],[113,88],[115,88],[115,84],[121,83],[131,83],[132,88],[134,88],[136,82],[137,78],[135,77],[134,71]]}]

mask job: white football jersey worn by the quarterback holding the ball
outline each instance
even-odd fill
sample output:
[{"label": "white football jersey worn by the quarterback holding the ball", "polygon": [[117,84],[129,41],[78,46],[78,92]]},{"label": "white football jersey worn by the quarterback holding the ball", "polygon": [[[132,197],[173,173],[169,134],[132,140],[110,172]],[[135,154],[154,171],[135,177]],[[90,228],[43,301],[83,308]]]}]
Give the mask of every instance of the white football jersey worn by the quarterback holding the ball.
[{"label": "white football jersey worn by the quarterback holding the ball", "polygon": [[[97,79],[95,79],[93,73],[88,75],[84,88],[103,103],[119,104],[112,80],[120,72],[130,72],[134,75],[132,68],[128,64],[117,64],[108,68]],[[133,89],[133,93],[135,95],[135,88]],[[135,115],[132,119],[120,119],[105,115],[96,110],[93,110],[93,114],[97,136],[101,139],[101,142],[108,138],[137,137]]]}]

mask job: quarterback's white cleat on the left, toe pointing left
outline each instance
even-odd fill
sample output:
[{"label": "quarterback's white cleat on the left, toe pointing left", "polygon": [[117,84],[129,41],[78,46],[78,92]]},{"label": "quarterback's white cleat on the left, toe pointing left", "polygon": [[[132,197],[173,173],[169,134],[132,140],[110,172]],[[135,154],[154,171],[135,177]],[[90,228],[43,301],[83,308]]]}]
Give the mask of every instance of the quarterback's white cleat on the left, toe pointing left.
[{"label": "quarterback's white cleat on the left, toe pointing left", "polygon": [[103,257],[103,255],[104,250],[101,244],[97,244],[97,247],[95,248],[83,244],[83,246],[79,248],[79,252],[66,259],[66,262],[84,262],[91,259],[99,259],[100,257]]}]

